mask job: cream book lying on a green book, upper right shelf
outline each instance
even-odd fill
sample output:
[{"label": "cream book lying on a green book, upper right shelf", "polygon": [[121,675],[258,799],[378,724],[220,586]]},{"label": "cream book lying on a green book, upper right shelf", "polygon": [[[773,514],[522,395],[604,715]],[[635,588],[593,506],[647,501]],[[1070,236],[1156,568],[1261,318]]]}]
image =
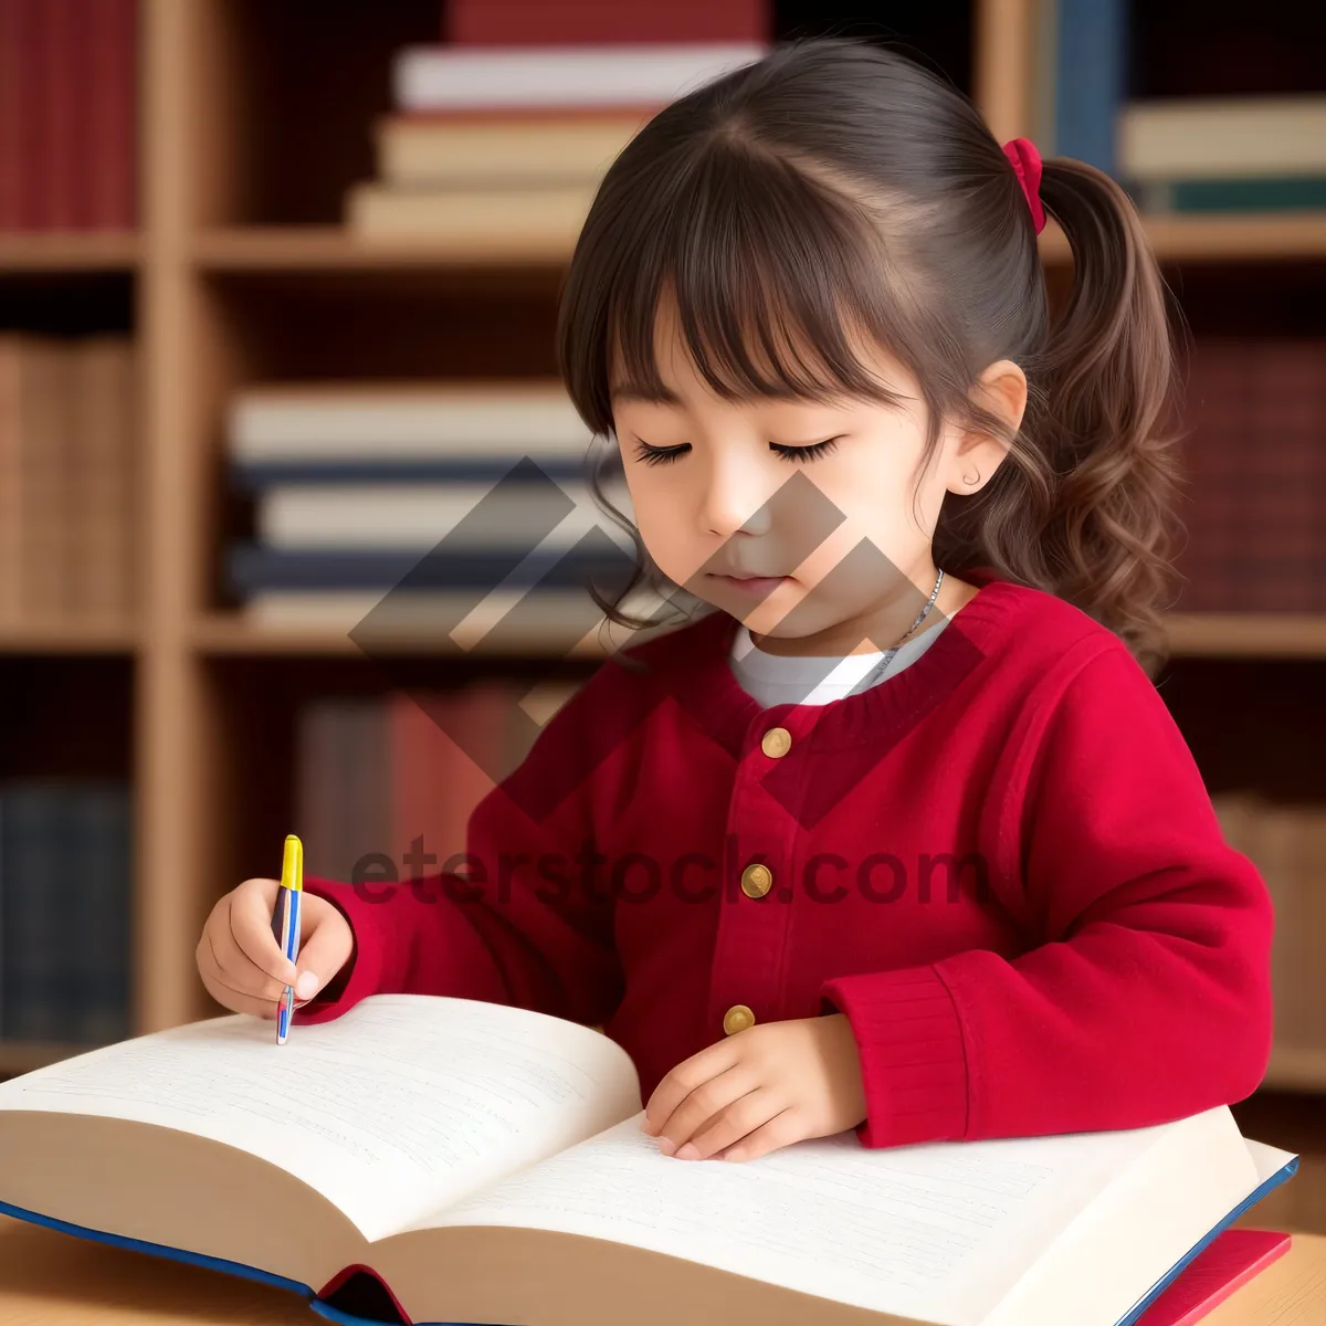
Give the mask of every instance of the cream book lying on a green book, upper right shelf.
[{"label": "cream book lying on a green book, upper right shelf", "polygon": [[1126,103],[1119,170],[1138,180],[1326,172],[1326,97],[1184,97]]}]

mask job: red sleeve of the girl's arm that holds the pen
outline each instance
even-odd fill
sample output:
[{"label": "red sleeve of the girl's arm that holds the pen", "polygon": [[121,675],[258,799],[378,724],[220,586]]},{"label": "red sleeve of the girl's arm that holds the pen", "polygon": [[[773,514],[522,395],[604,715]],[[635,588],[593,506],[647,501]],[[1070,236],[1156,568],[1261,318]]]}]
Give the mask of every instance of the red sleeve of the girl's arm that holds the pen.
[{"label": "red sleeve of the girl's arm that holds the pen", "polygon": [[593,861],[595,674],[525,761],[479,804],[464,871],[400,883],[306,879],[350,923],[350,960],[296,1014],[338,1017],[366,994],[450,994],[573,1021],[606,1020],[623,980]]}]

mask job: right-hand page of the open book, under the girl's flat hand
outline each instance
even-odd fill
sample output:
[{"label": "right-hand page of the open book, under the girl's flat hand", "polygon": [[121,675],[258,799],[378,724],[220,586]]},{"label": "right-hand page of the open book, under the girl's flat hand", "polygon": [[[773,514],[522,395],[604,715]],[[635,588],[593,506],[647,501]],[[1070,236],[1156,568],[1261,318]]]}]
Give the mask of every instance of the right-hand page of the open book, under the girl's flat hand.
[{"label": "right-hand page of the open book, under the girl's flat hand", "polygon": [[411,1228],[520,1225],[704,1262],[945,1326],[977,1326],[1160,1124],[870,1150],[853,1132],[756,1160],[676,1160],[643,1111]]}]

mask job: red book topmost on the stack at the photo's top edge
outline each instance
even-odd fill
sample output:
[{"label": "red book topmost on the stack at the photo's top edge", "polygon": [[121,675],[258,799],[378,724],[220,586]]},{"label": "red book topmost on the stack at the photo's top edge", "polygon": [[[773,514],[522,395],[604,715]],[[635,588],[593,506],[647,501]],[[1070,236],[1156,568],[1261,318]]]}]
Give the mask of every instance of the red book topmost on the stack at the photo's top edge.
[{"label": "red book topmost on the stack at the photo's top edge", "polygon": [[769,0],[452,0],[443,40],[465,46],[768,41]]}]

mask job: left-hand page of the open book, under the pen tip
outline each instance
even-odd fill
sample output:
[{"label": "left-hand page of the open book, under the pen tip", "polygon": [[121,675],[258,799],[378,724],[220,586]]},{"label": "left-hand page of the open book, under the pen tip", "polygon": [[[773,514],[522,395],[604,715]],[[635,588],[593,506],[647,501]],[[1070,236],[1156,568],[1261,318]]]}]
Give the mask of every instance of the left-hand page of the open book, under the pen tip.
[{"label": "left-hand page of the open book, under the pen tip", "polygon": [[635,1066],[606,1036],[423,994],[370,994],[285,1045],[235,1013],[0,1083],[0,1110],[137,1119],[261,1156],[369,1240],[639,1109]]}]

